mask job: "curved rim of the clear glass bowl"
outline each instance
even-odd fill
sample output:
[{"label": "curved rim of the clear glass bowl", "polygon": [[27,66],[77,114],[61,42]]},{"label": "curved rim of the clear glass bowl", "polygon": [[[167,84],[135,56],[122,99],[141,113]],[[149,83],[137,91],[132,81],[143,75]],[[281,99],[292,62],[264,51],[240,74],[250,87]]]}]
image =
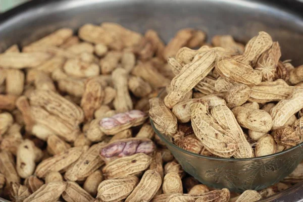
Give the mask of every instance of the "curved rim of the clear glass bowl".
[{"label": "curved rim of the clear glass bowl", "polygon": [[[165,88],[161,89],[158,93],[158,98],[161,96],[162,93],[164,93],[166,91]],[[271,155],[266,155],[266,156],[262,156],[262,157],[253,157],[253,158],[242,158],[242,159],[230,159],[230,158],[223,158],[223,157],[209,157],[209,156],[204,156],[204,155],[200,155],[200,154],[196,154],[196,153],[193,153],[191,151],[188,151],[188,150],[185,150],[179,146],[177,146],[176,144],[170,142],[169,140],[167,140],[164,136],[164,134],[162,134],[155,126],[154,124],[154,121],[149,118],[150,120],[150,124],[151,124],[151,127],[153,128],[153,130],[156,132],[156,134],[160,137],[160,139],[162,141],[164,141],[166,144],[169,144],[170,146],[178,149],[179,151],[182,151],[183,153],[186,153],[188,155],[191,155],[191,156],[195,156],[195,157],[199,157],[199,158],[204,158],[204,159],[209,159],[209,160],[216,160],[216,161],[227,161],[227,162],[245,162],[245,161],[251,161],[251,160],[264,160],[264,159],[269,159],[269,158],[272,158],[272,157],[277,157],[277,156],[281,156],[283,154],[286,154],[298,147],[301,147],[301,149],[303,149],[303,142],[291,147],[291,148],[288,148],[286,150],[283,150],[283,151],[279,151],[278,153],[275,153],[275,154],[271,154]]]}]

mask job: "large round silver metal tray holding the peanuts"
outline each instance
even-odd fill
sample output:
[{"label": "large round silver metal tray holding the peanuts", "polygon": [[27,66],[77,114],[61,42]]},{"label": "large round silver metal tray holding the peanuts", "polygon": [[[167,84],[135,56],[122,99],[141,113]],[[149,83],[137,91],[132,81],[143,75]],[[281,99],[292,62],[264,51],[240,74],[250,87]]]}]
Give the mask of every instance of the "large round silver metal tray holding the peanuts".
[{"label": "large round silver metal tray holding the peanuts", "polygon": [[[33,0],[0,14],[0,53],[61,28],[117,22],[144,32],[155,29],[168,42],[177,30],[193,27],[231,34],[246,42],[268,32],[282,48],[282,60],[303,64],[303,4],[294,0]],[[287,165],[286,165],[287,166]],[[262,201],[303,201],[303,184]],[[0,199],[0,201],[6,201]]]}]

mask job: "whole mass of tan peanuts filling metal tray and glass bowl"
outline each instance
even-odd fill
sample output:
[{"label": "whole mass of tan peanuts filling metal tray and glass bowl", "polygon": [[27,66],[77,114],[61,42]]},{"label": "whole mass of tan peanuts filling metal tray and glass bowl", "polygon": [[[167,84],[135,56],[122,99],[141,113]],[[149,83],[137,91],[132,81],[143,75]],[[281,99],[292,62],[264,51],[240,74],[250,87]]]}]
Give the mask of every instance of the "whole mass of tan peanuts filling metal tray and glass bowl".
[{"label": "whole mass of tan peanuts filling metal tray and glass bowl", "polygon": [[[246,202],[289,188],[303,180],[302,163],[261,191],[201,184],[148,120],[202,155],[245,158],[296,145],[302,68],[279,61],[278,53],[265,32],[244,46],[229,35],[207,44],[203,31],[186,28],[165,45],[154,30],[142,35],[106,22],[85,24],[77,35],[61,28],[21,49],[12,45],[0,54],[0,196]],[[164,100],[157,98],[163,88]]]}]

